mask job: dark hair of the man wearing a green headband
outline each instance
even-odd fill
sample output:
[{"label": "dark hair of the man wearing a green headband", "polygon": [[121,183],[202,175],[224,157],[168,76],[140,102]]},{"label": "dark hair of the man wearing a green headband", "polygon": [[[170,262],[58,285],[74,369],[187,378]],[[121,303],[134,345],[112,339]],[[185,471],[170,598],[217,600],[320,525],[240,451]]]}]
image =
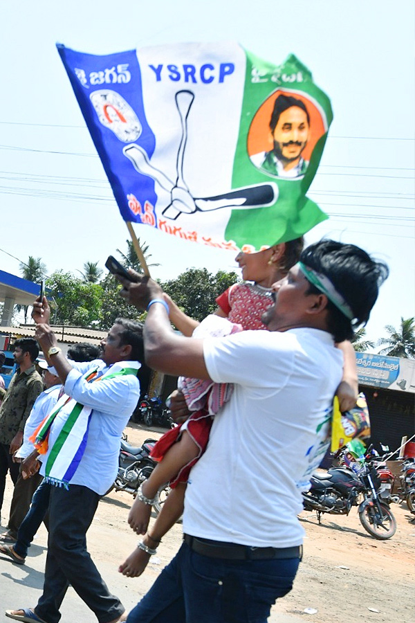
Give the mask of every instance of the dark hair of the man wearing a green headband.
[{"label": "dark hair of the man wearing a green headband", "polygon": [[[302,252],[300,261],[317,273],[329,278],[335,289],[342,295],[353,311],[349,320],[342,311],[329,300],[327,318],[329,332],[336,342],[351,340],[353,327],[365,325],[378,298],[379,287],[389,275],[385,262],[376,262],[354,244],[342,244],[334,240],[322,240],[308,246]],[[320,294],[314,285],[308,287],[307,294]]]}]

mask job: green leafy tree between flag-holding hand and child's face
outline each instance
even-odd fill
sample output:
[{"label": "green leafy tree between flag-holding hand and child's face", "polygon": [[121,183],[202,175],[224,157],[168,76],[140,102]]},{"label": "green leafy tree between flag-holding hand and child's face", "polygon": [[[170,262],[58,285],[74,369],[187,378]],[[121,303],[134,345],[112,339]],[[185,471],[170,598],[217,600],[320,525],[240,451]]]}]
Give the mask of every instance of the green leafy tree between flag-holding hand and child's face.
[{"label": "green leafy tree between flag-holding hand and child's face", "polygon": [[237,282],[237,273],[218,271],[212,275],[207,269],[187,269],[176,279],[161,284],[181,309],[195,320],[203,320],[216,309],[216,297]]}]

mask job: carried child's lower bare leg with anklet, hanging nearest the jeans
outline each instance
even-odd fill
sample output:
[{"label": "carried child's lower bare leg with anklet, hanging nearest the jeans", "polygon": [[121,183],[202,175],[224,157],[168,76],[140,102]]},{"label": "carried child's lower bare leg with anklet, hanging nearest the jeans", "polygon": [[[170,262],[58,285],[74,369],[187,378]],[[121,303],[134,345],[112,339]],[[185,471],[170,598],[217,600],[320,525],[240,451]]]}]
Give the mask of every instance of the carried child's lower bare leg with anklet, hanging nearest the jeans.
[{"label": "carried child's lower bare leg with anklet, hanging nearest the jeans", "polygon": [[[142,543],[147,545],[148,548],[156,549],[163,536],[183,514],[185,490],[186,485],[180,483],[176,489],[170,491],[160,514],[151,527],[151,535],[147,532],[142,539]],[[118,567],[118,571],[122,573],[122,575],[127,575],[127,577],[138,577],[147,567],[150,557],[151,554],[137,547],[131,552],[122,565]]]}]

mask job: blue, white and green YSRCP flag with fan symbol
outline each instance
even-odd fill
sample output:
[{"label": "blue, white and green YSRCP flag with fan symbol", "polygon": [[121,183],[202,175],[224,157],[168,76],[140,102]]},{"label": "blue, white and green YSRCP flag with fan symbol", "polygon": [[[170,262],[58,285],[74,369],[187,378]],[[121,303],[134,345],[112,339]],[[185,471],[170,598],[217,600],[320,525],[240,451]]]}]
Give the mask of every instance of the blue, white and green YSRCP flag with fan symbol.
[{"label": "blue, white and green YSRCP flag with fan symbol", "polygon": [[233,42],[57,47],[125,221],[259,251],[327,218],[306,191],[333,115],[295,56],[277,66]]}]

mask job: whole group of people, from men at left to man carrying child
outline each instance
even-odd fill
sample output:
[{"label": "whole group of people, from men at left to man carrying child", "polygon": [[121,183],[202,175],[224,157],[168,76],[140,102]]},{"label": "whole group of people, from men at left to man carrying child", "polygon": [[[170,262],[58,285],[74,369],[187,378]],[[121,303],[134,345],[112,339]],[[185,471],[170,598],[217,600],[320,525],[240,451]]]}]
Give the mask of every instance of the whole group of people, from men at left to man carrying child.
[{"label": "whole group of people, from men at left to man carrying child", "polygon": [[[291,590],[302,559],[301,491],[328,447],[334,395],[342,410],[356,401],[350,340],[388,271],[330,240],[303,250],[298,239],[237,261],[243,282],[200,324],[150,278],[118,276],[121,296],[147,318],[117,318],[99,354],[65,356],[46,297],[33,303],[35,340],[15,343],[19,369],[0,406],[0,500],[8,471],[15,483],[0,554],[25,563],[44,519],[48,553],[37,605],[6,616],[57,623],[71,585],[100,623],[265,623]],[[180,375],[172,396],[180,424],[156,444],[158,465],[127,520],[142,539],[119,571],[140,575],[182,513],[183,545],[127,615],[86,549],[86,531],[116,476],[144,361]],[[252,445],[262,447],[258,458]],[[172,493],[149,528],[165,482]]]}]

